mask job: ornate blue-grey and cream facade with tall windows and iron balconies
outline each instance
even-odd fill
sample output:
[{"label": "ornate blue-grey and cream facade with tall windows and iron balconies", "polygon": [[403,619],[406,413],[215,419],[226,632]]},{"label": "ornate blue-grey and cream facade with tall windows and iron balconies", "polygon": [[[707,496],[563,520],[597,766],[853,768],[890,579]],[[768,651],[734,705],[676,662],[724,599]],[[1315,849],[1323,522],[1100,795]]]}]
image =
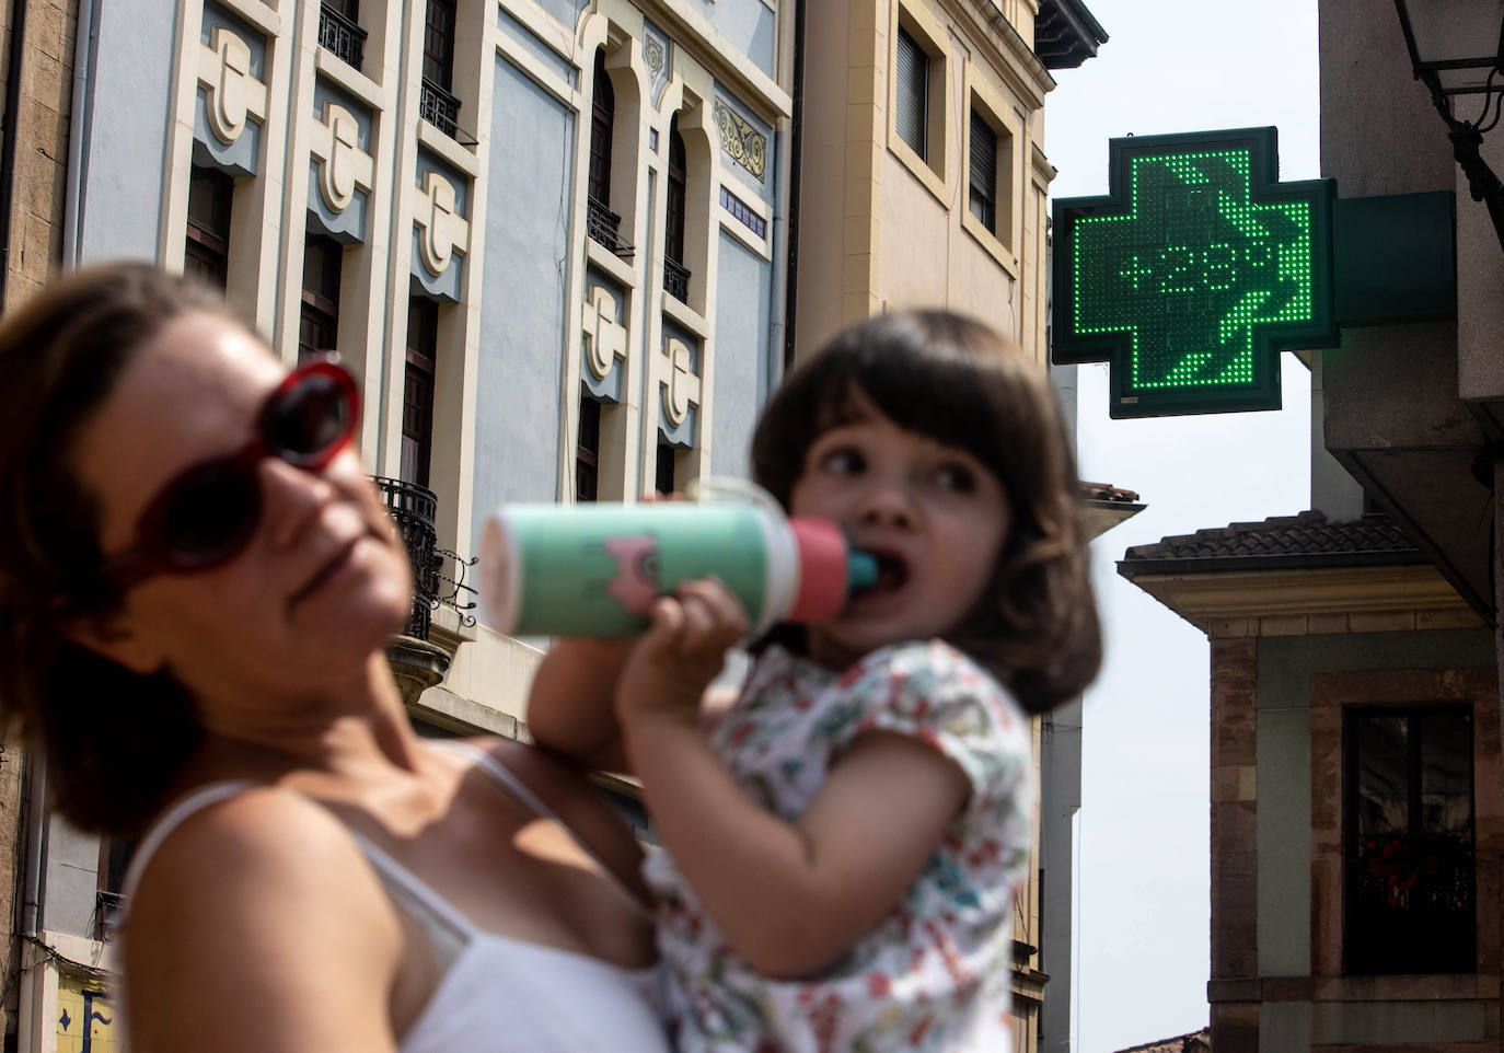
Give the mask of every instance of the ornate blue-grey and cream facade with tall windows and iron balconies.
[{"label": "ornate blue-grey and cream facade with tall windows and iron balconies", "polygon": [[[152,259],[221,284],[286,363],[338,352],[424,593],[391,650],[414,715],[522,734],[538,651],[477,621],[484,514],[744,474],[782,367],[793,6],[83,0],[62,21],[78,92],[53,69],[53,123],[20,126],[71,190],[54,230],[18,196],[12,232],[42,241],[12,281]],[[119,1048],[128,845],[36,820],[17,1048]]]}]

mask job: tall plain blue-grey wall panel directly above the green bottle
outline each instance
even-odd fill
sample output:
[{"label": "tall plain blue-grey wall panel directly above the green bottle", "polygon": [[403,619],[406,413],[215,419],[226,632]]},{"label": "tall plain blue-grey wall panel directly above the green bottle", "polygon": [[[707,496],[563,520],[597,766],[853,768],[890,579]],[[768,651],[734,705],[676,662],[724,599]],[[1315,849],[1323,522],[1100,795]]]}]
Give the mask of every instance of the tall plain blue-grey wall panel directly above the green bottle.
[{"label": "tall plain blue-grey wall panel directly above the green bottle", "polygon": [[[558,99],[510,62],[496,62],[475,403],[475,537],[495,505],[556,496],[573,125]],[[570,323],[578,331],[579,319]]]}]

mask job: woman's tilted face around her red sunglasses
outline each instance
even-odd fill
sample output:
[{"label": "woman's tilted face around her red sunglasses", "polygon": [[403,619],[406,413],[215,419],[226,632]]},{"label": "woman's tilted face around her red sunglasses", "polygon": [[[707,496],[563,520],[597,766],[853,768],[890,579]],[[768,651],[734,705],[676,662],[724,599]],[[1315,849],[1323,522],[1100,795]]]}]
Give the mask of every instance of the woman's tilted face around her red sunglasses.
[{"label": "woman's tilted face around her red sunglasses", "polygon": [[[135,545],[141,513],[185,468],[242,448],[284,375],[260,340],[211,313],[179,316],[144,344],[74,450],[101,551]],[[260,520],[244,551],[129,588],[96,647],[141,672],[170,668],[205,703],[316,692],[364,669],[402,627],[411,582],[359,457],[344,448],[317,472],[265,457],[256,471]]]}]

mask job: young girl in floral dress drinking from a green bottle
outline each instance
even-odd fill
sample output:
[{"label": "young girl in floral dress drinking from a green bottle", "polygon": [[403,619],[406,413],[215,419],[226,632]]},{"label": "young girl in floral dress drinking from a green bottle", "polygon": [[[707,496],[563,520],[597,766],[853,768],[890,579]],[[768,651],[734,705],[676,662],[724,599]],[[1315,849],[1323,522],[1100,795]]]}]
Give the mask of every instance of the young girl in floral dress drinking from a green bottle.
[{"label": "young girl in floral dress drinking from a green bottle", "polygon": [[1044,370],[978,322],[884,314],[788,376],[752,466],[875,587],[754,645],[728,704],[707,686],[746,617],[693,582],[630,645],[559,642],[531,731],[642,781],[683,1053],[1011,1048],[1029,713],[1101,656]]}]

